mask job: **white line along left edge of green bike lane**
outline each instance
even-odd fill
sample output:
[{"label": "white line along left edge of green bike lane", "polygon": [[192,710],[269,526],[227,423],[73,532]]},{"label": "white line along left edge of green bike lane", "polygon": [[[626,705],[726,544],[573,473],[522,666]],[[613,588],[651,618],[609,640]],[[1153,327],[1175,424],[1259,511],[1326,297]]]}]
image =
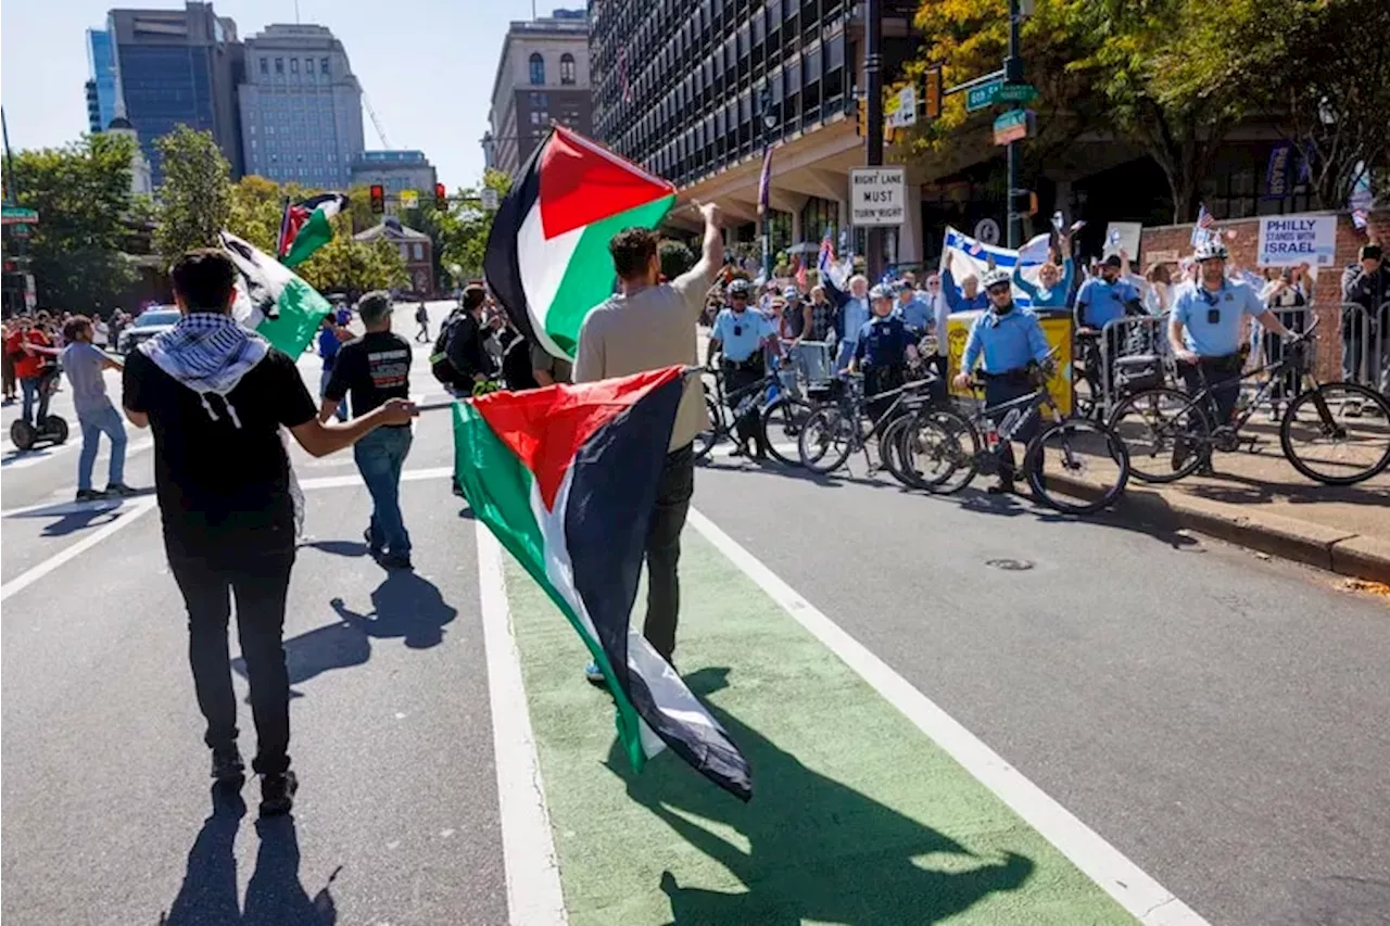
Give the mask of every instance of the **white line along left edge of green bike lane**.
[{"label": "white line along left edge of green bike lane", "polygon": [[512,926],[564,926],[569,915],[560,890],[560,862],[521,681],[521,653],[512,633],[502,544],[482,521],[477,523],[477,538],[507,911]]}]

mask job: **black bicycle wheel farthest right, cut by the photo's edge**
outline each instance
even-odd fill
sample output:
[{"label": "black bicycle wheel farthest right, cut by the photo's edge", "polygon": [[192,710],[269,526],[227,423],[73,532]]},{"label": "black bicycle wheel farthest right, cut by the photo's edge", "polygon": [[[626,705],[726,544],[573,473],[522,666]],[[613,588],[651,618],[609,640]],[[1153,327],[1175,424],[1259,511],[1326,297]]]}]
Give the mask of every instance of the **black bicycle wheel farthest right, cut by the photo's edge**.
[{"label": "black bicycle wheel farthest right, cut by the photo's edge", "polygon": [[1325,382],[1293,400],[1279,444],[1308,478],[1354,485],[1390,466],[1390,405],[1375,389]]}]

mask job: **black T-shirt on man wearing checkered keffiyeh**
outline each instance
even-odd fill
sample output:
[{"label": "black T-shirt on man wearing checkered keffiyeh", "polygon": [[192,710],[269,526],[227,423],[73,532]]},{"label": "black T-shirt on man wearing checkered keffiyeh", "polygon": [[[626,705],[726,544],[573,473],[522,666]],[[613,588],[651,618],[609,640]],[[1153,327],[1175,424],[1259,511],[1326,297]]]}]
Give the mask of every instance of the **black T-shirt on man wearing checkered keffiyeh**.
[{"label": "black T-shirt on man wearing checkered keffiyeh", "polygon": [[154,431],[154,489],[170,556],[295,548],[279,427],[304,424],[317,407],[293,360],[271,348],[225,400],[207,396],[213,414],[139,350],[126,357],[122,381],[122,403],[146,413]]}]

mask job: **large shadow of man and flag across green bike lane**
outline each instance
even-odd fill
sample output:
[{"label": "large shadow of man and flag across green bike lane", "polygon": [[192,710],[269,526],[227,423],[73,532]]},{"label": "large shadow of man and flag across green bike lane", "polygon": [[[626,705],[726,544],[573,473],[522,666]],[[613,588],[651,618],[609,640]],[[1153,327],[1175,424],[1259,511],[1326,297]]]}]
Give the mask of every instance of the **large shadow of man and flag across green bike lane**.
[{"label": "large shadow of man and flag across green bike lane", "polygon": [[[755,774],[748,804],[716,788],[666,751],[637,774],[614,742],[607,767],[628,795],[664,820],[685,841],[727,868],[746,893],[681,887],[670,872],[660,888],[674,922],[802,922],[885,926],[934,923],[995,891],[1017,890],[1031,876],[1031,859],[1005,854],[979,859],[967,848],[890,806],[819,774],[706,699],[727,685],[728,669],[701,669],[685,679],[739,745]],[[689,818],[727,826],[748,840],[748,851]],[[929,870],[915,856],[959,856],[951,872]]]}]

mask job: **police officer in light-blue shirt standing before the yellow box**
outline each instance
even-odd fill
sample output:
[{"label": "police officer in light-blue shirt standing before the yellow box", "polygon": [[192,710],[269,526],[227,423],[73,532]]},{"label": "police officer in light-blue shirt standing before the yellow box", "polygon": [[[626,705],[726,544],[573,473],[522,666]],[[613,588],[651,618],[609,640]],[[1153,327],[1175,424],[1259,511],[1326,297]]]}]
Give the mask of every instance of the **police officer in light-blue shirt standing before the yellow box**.
[{"label": "police officer in light-blue shirt standing before the yellow box", "polygon": [[[970,387],[970,374],[983,355],[984,403],[995,407],[1033,391],[1033,368],[1047,362],[1048,346],[1038,317],[1013,304],[1013,282],[1008,270],[990,270],[980,282],[990,298],[990,310],[980,313],[970,327],[955,385],[960,389]],[[1004,414],[992,419],[995,427]],[[1026,442],[1037,425],[1038,417],[1031,414],[1013,437]],[[1008,441],[1002,457],[999,481],[988,488],[992,495],[1013,491],[1013,448]]]}]

